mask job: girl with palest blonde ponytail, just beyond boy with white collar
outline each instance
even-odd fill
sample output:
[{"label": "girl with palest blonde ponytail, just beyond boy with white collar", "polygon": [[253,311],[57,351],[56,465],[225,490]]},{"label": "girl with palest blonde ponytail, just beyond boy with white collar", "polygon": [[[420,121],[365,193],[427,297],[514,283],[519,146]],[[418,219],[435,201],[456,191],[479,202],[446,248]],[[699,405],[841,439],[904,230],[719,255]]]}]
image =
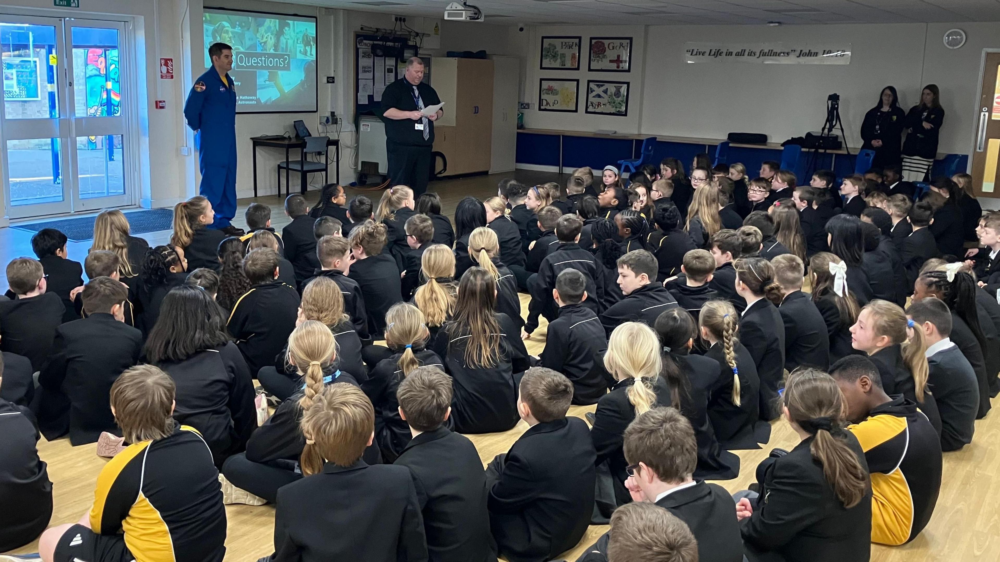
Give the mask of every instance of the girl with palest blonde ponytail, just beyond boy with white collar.
[{"label": "girl with palest blonde ponytail, just beyond boy with white collar", "polygon": [[639,414],[672,403],[669,385],[660,378],[663,359],[656,332],[642,322],[625,322],[611,332],[604,368],[617,381],[611,392],[597,401],[590,436],[597,450],[597,464],[608,463],[617,505],[630,501],[625,480],[625,428]]}]

